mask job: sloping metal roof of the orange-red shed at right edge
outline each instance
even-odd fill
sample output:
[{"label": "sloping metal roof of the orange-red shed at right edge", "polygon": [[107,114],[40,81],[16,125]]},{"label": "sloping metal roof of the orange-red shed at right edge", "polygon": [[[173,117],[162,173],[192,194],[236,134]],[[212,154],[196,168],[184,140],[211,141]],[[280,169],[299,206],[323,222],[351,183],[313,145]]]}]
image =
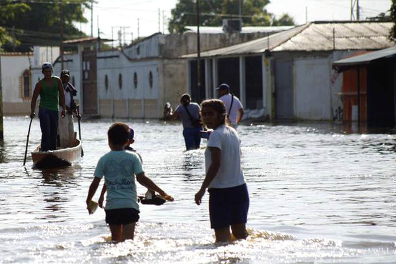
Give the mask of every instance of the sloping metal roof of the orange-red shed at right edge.
[{"label": "sloping metal roof of the orange-red shed at right edge", "polygon": [[396,56],[396,46],[388,48],[388,49],[376,51],[376,52],[365,53],[362,55],[357,55],[357,56],[353,56],[353,57],[349,57],[349,58],[340,59],[333,63],[333,67],[367,64],[370,61],[373,61],[373,60],[376,60],[379,58],[390,57],[390,56]]}]

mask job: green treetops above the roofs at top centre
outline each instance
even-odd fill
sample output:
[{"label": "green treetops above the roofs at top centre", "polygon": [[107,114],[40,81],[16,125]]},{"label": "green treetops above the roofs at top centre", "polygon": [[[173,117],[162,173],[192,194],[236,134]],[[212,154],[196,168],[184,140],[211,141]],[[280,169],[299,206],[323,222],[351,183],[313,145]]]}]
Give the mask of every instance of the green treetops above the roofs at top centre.
[{"label": "green treetops above the roofs at top centre", "polygon": [[[244,26],[294,25],[294,20],[288,14],[280,19],[267,12],[265,6],[269,0],[200,0],[199,25],[221,26],[225,18],[239,18],[241,7],[242,24]],[[186,26],[197,25],[197,2],[179,0],[171,10],[169,20],[170,33],[181,33]]]}]

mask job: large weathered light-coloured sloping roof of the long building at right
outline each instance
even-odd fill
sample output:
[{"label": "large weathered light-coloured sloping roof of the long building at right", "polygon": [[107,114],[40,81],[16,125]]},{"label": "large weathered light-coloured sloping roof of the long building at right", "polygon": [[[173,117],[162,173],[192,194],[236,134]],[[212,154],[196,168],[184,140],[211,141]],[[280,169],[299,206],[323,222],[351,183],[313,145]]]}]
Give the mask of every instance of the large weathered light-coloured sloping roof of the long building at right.
[{"label": "large weathered light-coloured sloping roof of the long building at right", "polygon": [[[378,50],[393,46],[388,39],[392,22],[311,22],[269,37],[200,53],[201,57],[281,51]],[[334,46],[333,46],[334,28]],[[188,54],[183,57],[197,57]]]}]

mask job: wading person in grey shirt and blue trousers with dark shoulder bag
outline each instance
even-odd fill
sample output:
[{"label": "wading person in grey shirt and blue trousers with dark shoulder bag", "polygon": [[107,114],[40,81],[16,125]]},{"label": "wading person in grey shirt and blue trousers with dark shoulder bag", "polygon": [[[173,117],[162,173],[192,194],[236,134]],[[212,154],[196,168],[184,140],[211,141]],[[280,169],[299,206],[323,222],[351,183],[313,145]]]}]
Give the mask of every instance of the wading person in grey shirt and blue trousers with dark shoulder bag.
[{"label": "wading person in grey shirt and blue trousers with dark shoulder bag", "polygon": [[169,115],[169,118],[174,120],[180,117],[182,119],[186,150],[199,149],[201,142],[200,130],[202,130],[200,106],[197,103],[191,103],[189,94],[183,94],[180,98],[180,103],[181,105],[176,107],[175,111]]}]

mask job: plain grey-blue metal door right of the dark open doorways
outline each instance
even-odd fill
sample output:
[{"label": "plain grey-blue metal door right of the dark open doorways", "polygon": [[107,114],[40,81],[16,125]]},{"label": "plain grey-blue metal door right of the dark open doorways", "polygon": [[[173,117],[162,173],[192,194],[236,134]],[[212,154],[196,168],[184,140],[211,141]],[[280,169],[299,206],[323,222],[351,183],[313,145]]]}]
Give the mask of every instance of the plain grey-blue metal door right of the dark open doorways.
[{"label": "plain grey-blue metal door right of the dark open doorways", "polygon": [[293,61],[275,61],[276,118],[294,118]]}]

